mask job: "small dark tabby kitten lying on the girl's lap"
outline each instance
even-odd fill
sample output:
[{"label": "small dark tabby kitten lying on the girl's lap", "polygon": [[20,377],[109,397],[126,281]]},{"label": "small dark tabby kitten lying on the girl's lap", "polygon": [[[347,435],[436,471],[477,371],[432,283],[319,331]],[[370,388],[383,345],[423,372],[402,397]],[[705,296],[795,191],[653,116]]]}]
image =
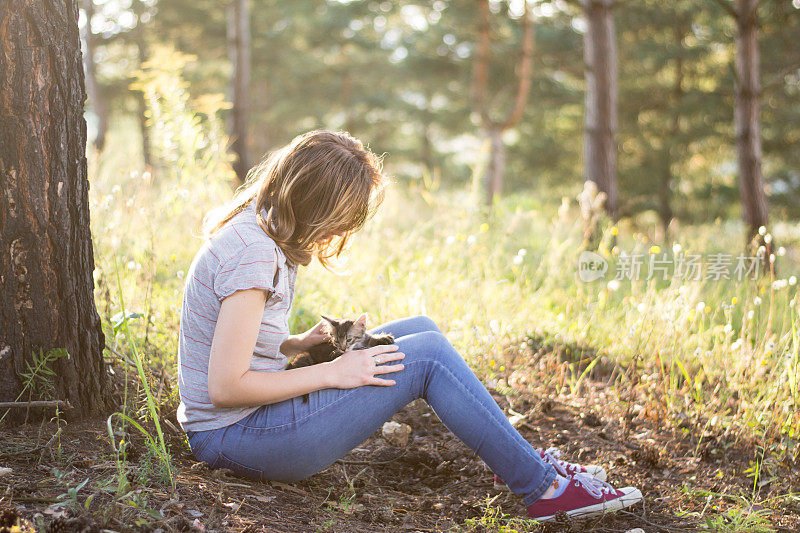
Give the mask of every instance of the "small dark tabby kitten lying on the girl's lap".
[{"label": "small dark tabby kitten lying on the girl's lap", "polygon": [[[366,315],[361,315],[356,320],[337,320],[326,316],[323,316],[322,319],[328,323],[327,333],[330,340],[312,346],[307,352],[296,355],[286,365],[287,370],[327,363],[349,350],[363,350],[379,344],[394,343],[394,335],[391,333],[379,335],[367,333]],[[303,401],[308,401],[308,394],[303,395]]]}]

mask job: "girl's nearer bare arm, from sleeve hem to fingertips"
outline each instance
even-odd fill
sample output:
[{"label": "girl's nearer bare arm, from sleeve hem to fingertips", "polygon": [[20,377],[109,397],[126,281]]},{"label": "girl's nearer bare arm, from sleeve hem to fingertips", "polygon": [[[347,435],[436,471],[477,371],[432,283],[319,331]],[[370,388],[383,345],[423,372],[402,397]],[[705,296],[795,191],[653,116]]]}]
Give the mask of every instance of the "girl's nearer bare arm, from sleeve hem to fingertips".
[{"label": "girl's nearer bare arm, from sleeve hem to fingertips", "polygon": [[216,407],[265,405],[319,389],[395,384],[375,375],[396,372],[403,365],[376,366],[373,357],[384,353],[383,362],[405,357],[394,344],[345,352],[329,363],[291,370],[250,370],[265,303],[263,290],[249,289],[233,293],[220,305],[208,362],[208,394]]}]

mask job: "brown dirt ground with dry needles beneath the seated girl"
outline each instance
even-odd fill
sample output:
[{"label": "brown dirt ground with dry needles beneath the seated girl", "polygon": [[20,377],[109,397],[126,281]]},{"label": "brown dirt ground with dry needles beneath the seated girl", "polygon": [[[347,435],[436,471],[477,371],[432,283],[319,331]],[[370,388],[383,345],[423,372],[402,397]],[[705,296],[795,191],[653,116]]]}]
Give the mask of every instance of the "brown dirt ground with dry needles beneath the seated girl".
[{"label": "brown dirt ground with dry needles beneath the seated girl", "polygon": [[[761,503],[747,503],[753,479],[745,471],[755,452],[746,442],[692,424],[654,424],[629,408],[603,406],[602,383],[587,387],[583,399],[490,390],[504,409],[526,415],[518,427],[534,446],[557,446],[567,459],[602,465],[613,485],[640,488],[644,505],[585,521],[507,523],[526,517],[521,500],[494,489],[480,458],[417,400],[393,417],[413,430],[407,446],[391,445],[377,431],[293,485],[211,471],[172,428],[175,490],[148,477],[152,460],[140,443],[128,465],[132,491],[122,498],[115,497],[117,466],[104,419],[62,422],[55,441],[52,422],[0,428],[0,467],[11,469],[0,474],[0,532],[800,531],[800,500],[774,498],[800,491],[797,465],[773,465],[774,480],[758,488]],[[736,529],[747,516],[755,521]]]}]

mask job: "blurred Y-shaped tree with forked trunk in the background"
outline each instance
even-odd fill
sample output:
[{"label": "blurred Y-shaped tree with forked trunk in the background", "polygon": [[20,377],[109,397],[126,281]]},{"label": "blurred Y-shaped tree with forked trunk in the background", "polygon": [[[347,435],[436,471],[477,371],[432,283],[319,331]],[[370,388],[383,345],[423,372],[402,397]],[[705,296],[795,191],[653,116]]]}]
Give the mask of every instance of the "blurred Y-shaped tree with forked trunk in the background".
[{"label": "blurred Y-shaped tree with forked trunk in the background", "polygon": [[523,12],[520,17],[522,24],[522,50],[517,67],[517,94],[508,116],[505,119],[496,120],[490,115],[487,95],[489,66],[491,63],[491,11],[488,0],[479,0],[478,7],[478,42],[474,58],[472,101],[475,112],[480,117],[483,134],[490,143],[489,162],[486,166],[484,185],[486,203],[491,205],[495,195],[500,194],[503,188],[503,173],[505,171],[503,132],[519,122],[528,101],[533,57],[533,20],[528,0],[524,0]]}]

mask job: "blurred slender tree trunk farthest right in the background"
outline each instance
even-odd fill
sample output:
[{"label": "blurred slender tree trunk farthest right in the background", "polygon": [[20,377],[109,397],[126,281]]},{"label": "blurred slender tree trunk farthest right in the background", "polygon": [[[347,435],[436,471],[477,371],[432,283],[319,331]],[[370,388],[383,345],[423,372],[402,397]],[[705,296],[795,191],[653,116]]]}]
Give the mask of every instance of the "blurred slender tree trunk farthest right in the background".
[{"label": "blurred slender tree trunk farthest right in the background", "polygon": [[[761,132],[758,96],[758,0],[736,0],[736,144],[739,189],[748,242],[767,225],[767,198],[761,173]],[[769,247],[768,247],[769,248]]]}]

